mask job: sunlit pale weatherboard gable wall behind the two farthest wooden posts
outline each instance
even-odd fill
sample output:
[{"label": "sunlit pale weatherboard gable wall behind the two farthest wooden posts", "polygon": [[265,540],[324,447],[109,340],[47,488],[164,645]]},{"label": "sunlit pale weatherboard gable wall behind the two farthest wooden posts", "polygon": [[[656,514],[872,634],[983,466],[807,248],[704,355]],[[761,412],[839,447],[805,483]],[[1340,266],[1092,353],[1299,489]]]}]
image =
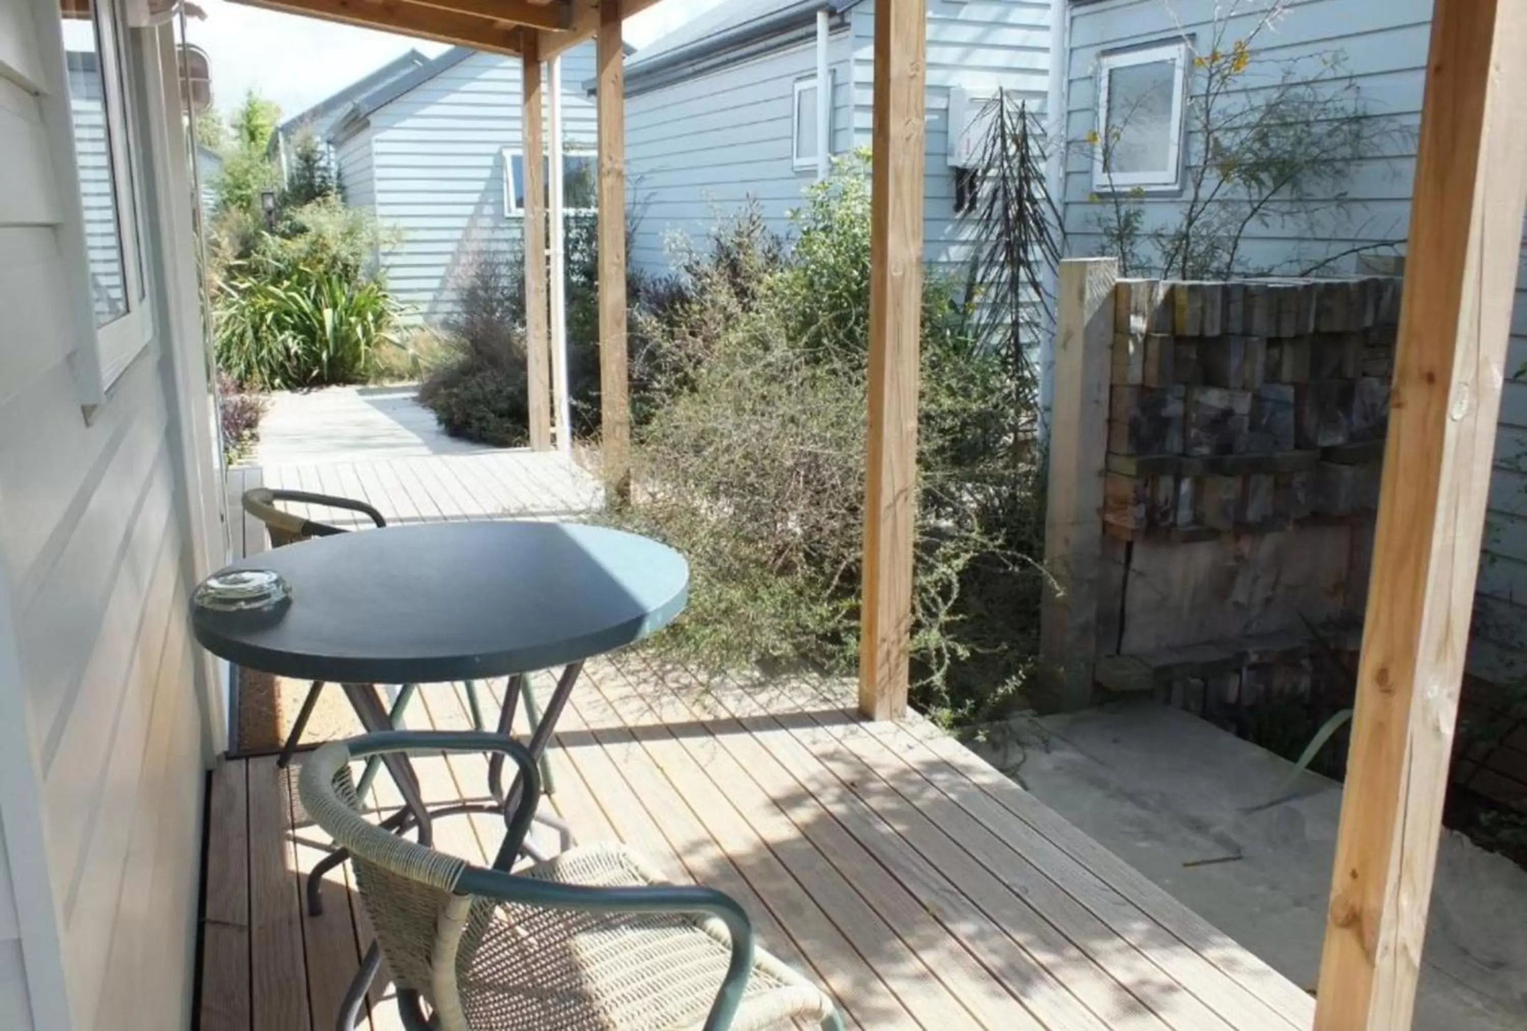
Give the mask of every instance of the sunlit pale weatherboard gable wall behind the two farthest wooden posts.
[{"label": "sunlit pale weatherboard gable wall behind the two farthest wooden posts", "polygon": [[[577,84],[594,73],[594,46],[562,57],[563,139],[594,147],[594,104]],[[483,247],[518,243],[504,212],[504,147],[519,148],[521,63],[473,53],[371,113],[336,142],[347,200],[400,234],[382,254],[392,293],[429,322],[457,310],[461,276]]]}]

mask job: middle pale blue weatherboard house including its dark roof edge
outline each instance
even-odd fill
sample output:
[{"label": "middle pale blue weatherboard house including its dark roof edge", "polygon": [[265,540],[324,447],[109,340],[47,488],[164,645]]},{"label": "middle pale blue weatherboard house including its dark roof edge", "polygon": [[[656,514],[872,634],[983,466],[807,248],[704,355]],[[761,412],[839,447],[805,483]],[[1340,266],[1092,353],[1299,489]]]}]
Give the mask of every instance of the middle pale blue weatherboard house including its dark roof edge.
[{"label": "middle pale blue weatherboard house including its dark roof edge", "polygon": [[[959,260],[957,182],[982,104],[1002,87],[1044,110],[1051,0],[928,0],[925,252]],[[777,229],[817,176],[818,20],[826,18],[834,154],[870,144],[873,0],[722,3],[626,64],[626,174],[641,214],[635,267],[664,237],[702,237],[750,197]]]}]

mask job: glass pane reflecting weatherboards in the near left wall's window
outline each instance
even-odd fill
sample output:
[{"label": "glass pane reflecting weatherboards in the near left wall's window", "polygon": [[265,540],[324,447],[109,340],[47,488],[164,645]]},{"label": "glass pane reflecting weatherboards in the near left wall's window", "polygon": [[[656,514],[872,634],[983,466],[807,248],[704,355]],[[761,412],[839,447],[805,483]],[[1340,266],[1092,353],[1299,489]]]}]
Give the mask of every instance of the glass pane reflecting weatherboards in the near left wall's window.
[{"label": "glass pane reflecting weatherboards in the near left wall's window", "polygon": [[101,8],[92,0],[63,0],[69,107],[73,113],[79,199],[86,217],[86,255],[95,324],[127,315],[122,235],[107,122],[105,78],[101,70]]}]

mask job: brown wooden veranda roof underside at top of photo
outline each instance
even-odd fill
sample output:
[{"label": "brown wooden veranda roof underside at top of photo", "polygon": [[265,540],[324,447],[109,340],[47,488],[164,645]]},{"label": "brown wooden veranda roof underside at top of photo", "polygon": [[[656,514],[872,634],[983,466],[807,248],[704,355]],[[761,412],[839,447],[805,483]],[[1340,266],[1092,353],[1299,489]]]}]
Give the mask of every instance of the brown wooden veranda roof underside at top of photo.
[{"label": "brown wooden veranda roof underside at top of photo", "polygon": [[[599,29],[597,0],[235,0],[253,8],[359,24],[492,53],[542,60],[577,46]],[[657,0],[625,0],[629,18]]]}]

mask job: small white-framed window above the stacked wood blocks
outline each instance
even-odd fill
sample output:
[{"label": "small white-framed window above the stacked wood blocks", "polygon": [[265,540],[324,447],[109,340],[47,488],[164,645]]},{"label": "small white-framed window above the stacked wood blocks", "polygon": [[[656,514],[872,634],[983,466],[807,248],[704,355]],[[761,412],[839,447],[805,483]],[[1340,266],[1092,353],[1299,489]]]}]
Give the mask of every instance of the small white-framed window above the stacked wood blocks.
[{"label": "small white-framed window above the stacked wood blocks", "polygon": [[1186,75],[1186,43],[1099,58],[1093,189],[1179,185]]}]

